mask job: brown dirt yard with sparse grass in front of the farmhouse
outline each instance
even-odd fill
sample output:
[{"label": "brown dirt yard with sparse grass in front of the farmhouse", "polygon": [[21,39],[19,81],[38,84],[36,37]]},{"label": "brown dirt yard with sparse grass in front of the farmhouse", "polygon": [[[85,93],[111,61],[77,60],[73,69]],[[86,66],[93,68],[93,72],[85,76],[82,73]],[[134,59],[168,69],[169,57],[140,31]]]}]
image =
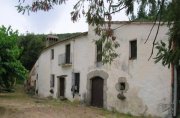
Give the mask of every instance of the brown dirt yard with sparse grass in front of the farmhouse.
[{"label": "brown dirt yard with sparse grass in front of the farmhouse", "polygon": [[22,87],[15,93],[0,93],[0,118],[132,118],[77,103],[29,97]]}]

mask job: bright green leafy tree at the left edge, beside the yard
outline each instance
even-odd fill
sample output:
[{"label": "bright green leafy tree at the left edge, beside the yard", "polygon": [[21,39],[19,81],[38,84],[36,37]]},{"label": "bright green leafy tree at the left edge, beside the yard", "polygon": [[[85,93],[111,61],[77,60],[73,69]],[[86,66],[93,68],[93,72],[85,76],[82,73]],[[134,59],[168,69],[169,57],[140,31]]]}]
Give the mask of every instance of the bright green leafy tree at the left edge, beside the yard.
[{"label": "bright green leafy tree at the left edge, beside the yard", "polygon": [[18,32],[11,27],[0,27],[0,88],[11,90],[16,79],[26,78],[26,69],[18,60],[21,49],[17,46]]}]

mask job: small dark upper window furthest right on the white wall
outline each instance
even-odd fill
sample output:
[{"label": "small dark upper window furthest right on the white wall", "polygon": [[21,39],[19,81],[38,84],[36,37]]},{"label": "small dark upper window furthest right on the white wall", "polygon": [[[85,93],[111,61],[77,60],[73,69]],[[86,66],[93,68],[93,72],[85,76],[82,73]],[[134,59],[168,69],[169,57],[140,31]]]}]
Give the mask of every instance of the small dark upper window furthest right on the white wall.
[{"label": "small dark upper window furthest right on the white wall", "polygon": [[137,40],[130,41],[130,59],[137,58]]}]

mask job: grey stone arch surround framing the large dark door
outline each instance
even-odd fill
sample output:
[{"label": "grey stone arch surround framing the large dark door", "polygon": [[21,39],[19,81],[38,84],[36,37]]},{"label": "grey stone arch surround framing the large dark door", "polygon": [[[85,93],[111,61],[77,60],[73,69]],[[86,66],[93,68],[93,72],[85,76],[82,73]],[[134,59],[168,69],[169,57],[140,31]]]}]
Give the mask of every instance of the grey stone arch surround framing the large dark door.
[{"label": "grey stone arch surround framing the large dark door", "polygon": [[93,70],[87,74],[87,104],[91,104],[91,87],[92,87],[92,78],[101,77],[104,80],[103,85],[103,107],[107,108],[107,79],[109,74],[104,70]]}]

